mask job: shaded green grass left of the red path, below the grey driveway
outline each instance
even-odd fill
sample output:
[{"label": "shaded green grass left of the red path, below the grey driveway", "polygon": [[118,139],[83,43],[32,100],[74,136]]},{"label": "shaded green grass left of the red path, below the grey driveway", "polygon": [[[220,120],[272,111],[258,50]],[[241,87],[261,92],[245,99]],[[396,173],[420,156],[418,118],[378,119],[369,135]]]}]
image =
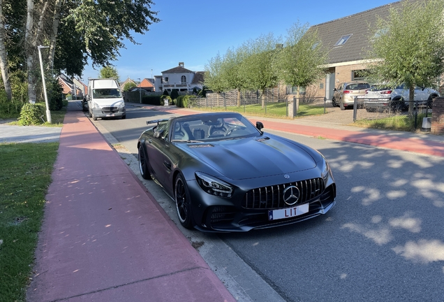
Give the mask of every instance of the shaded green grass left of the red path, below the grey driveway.
[{"label": "shaded green grass left of the red path, below the grey driveway", "polygon": [[59,143],[0,144],[0,297],[25,301]]}]

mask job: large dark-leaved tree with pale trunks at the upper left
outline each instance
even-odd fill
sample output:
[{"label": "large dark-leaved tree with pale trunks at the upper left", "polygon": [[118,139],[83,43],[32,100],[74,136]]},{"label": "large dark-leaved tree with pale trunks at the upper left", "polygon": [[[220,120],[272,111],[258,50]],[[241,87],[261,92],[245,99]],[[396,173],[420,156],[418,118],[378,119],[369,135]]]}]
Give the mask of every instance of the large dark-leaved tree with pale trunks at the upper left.
[{"label": "large dark-leaved tree with pale trunks at the upper left", "polygon": [[[151,0],[2,0],[0,69],[3,85],[10,85],[8,69],[27,72],[28,98],[36,99],[40,76],[37,46],[49,43],[42,57],[47,71],[81,75],[87,58],[106,66],[117,59],[124,39],[136,43],[133,33],[144,34],[160,20]],[[6,55],[5,51],[6,50]],[[49,57],[49,59],[47,59]],[[52,70],[54,68],[54,71]]]}]

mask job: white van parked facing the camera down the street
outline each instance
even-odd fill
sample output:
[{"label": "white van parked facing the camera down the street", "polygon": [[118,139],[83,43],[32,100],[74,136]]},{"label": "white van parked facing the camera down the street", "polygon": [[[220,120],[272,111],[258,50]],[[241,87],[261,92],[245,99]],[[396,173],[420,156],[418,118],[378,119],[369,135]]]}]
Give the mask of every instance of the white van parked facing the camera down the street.
[{"label": "white van parked facing the camera down the street", "polygon": [[89,117],[121,117],[126,118],[124,98],[119,84],[115,79],[88,79]]}]

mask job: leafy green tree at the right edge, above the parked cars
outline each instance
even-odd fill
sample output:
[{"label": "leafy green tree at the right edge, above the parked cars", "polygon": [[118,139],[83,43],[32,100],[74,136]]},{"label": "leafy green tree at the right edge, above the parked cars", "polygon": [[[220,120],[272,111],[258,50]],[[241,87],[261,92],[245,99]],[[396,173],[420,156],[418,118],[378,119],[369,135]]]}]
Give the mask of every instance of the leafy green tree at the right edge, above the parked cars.
[{"label": "leafy green tree at the right edge, above the parked cars", "polygon": [[403,1],[401,9],[392,8],[370,28],[370,78],[392,86],[404,82],[410,114],[415,86],[429,87],[444,73],[443,13],[442,0]]}]

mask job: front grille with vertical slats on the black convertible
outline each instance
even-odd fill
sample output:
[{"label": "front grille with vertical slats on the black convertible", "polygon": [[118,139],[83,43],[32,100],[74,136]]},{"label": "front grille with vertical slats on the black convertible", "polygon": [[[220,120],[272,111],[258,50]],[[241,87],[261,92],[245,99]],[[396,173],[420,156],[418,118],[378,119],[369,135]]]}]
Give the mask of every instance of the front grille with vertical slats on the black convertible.
[{"label": "front grille with vertical slats on the black convertible", "polygon": [[311,180],[302,180],[298,182],[290,182],[284,185],[273,185],[269,187],[260,187],[251,189],[245,194],[242,202],[243,208],[249,209],[273,209],[290,207],[283,201],[283,190],[289,186],[295,186],[299,189],[299,199],[296,206],[315,199],[323,193],[324,181],[322,178],[313,178]]}]

